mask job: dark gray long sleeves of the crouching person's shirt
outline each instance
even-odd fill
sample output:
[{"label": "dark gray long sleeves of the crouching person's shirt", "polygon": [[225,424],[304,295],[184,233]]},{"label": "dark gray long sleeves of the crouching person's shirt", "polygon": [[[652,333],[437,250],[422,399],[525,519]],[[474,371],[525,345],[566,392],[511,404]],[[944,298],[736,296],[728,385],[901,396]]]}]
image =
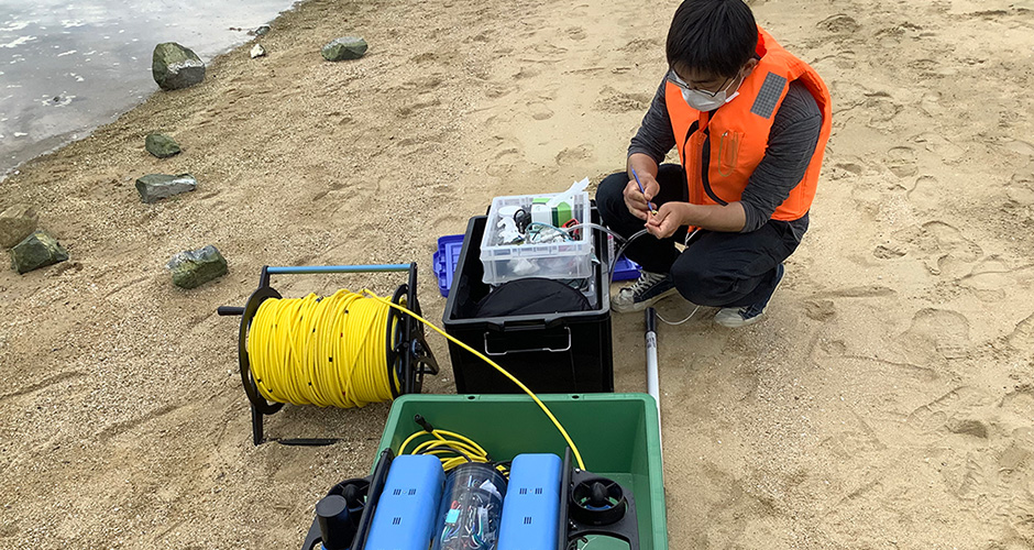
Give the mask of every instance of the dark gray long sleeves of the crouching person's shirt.
[{"label": "dark gray long sleeves of the crouching person's shirt", "polygon": [[[658,164],[675,146],[668,105],[664,102],[666,85],[667,78],[661,80],[650,109],[628,146],[629,155],[642,153]],[[787,200],[790,191],[801,182],[815,153],[821,131],[822,111],[815,98],[804,85],[790,82],[790,90],[772,120],[765,156],[750,175],[740,197],[747,216],[744,233],[755,231],[768,222],[779,205]],[[800,241],[807,229],[807,215],[790,224]]]}]

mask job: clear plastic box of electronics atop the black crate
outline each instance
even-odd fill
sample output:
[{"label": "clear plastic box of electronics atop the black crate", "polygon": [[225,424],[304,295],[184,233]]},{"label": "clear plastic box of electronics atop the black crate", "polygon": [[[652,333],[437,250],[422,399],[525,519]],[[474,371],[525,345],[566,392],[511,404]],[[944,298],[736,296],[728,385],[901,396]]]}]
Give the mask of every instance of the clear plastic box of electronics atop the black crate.
[{"label": "clear plastic box of electronics atop the black crate", "polygon": [[[499,209],[516,206],[530,211],[537,198],[552,198],[554,195],[524,195],[495,197],[488,209],[485,235],[481,241],[481,263],[485,267],[483,282],[498,285],[507,280],[525,277],[546,277],[557,279],[586,278],[593,275],[592,230],[584,228],[575,241],[538,244],[498,244]],[[579,222],[590,220],[588,193],[574,194],[571,213]]]}]

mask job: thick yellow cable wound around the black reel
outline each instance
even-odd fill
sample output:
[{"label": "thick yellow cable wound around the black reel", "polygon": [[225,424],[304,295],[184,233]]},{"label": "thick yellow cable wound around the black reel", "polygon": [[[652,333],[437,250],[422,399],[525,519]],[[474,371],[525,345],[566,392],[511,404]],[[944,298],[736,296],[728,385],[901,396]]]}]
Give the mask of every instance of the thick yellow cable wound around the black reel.
[{"label": "thick yellow cable wound around the black reel", "polygon": [[[258,393],[271,402],[319,407],[391,400],[386,339],[397,319],[385,334],[389,312],[378,299],[343,289],[324,298],[263,301],[248,336]],[[397,391],[397,374],[391,383]]]}]

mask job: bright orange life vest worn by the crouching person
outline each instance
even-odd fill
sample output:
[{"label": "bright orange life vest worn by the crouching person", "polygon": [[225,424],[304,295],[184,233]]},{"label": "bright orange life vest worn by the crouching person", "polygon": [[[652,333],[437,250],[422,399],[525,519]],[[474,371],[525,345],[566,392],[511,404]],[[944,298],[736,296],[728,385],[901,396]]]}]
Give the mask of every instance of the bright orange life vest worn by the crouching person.
[{"label": "bright orange life vest worn by the crouching person", "polygon": [[806,63],[783,50],[758,28],[758,65],[739,87],[739,96],[716,111],[702,112],[686,105],[682,91],[669,81],[664,96],[671,130],[685,168],[690,202],[727,205],[740,199],[747,182],[768,148],[776,111],[800,81],[822,111],[818,144],[804,177],[790,191],[772,219],[791,221],[807,213],[815,198],[822,156],[829,140],[831,97],[825,82]]}]

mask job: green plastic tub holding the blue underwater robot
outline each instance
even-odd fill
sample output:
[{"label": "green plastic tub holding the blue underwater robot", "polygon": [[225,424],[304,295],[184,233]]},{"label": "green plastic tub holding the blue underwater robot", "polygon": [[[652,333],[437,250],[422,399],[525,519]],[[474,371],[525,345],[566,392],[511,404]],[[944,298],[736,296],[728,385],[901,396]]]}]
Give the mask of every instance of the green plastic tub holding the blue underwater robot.
[{"label": "green plastic tub holding the blue underwater robot", "polygon": [[[639,548],[668,550],[664,481],[657,405],[647,394],[540,395],[578,446],[585,469],[630,488],[639,520]],[[381,450],[398,447],[420,430],[414,415],[435,428],[466,436],[495,460],[525,452],[563,458],[563,437],[526,395],[404,395],[392,405]],[[622,541],[596,538],[596,550],[627,549]]]}]

